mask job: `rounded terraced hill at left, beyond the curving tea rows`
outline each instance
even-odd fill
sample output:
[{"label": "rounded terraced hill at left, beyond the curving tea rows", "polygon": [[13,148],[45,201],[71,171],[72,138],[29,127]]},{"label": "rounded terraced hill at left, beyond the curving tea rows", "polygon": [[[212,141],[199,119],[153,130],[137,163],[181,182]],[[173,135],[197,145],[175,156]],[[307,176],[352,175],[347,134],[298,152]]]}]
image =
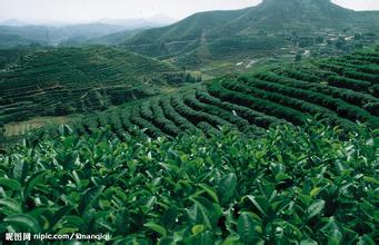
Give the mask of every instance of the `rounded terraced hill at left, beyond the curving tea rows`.
[{"label": "rounded terraced hill at left, beyond the curving tea rows", "polygon": [[0,71],[0,122],[103,110],[190,78],[171,65],[116,48],[23,53]]}]

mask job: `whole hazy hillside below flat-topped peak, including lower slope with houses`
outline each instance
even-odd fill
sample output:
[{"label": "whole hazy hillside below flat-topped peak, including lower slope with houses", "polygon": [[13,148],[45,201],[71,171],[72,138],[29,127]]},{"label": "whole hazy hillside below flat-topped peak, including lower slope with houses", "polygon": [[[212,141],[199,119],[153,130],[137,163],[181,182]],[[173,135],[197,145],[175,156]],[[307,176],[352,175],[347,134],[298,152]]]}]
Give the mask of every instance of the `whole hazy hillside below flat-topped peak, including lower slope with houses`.
[{"label": "whole hazy hillside below flat-topped peak, including lower slope with houses", "polygon": [[283,49],[300,51],[299,47],[319,45],[320,38],[326,43],[331,37],[366,33],[379,27],[378,16],[343,9],[329,0],[265,0],[242,10],[196,13],[169,27],[143,31],[126,47],[201,67],[215,60],[278,55]]}]

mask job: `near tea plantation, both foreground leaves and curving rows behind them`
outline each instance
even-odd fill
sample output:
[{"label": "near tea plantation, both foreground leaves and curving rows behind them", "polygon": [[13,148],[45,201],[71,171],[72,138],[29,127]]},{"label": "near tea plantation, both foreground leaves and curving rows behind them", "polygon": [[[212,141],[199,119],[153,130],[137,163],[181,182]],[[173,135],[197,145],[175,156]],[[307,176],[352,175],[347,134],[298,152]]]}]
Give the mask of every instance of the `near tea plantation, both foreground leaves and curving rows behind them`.
[{"label": "near tea plantation, both foreground leaves and curving rows behind them", "polygon": [[0,154],[0,234],[373,245],[378,82],[379,52],[360,51],[229,75],[36,133]]}]

